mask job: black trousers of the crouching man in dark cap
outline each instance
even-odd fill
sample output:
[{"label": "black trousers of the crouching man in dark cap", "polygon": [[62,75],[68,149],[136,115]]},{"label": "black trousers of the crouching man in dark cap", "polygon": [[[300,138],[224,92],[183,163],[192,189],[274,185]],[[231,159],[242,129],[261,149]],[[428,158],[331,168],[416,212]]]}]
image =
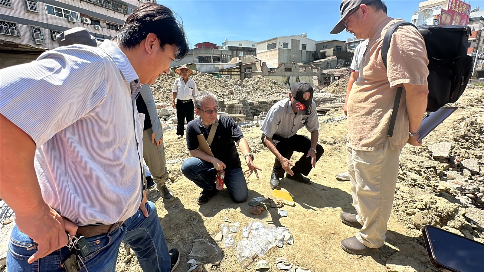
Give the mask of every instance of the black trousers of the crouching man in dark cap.
[{"label": "black trousers of the crouching man in dark cap", "polygon": [[[262,134],[262,144],[267,147],[266,143],[264,142],[265,135]],[[302,135],[294,135],[289,138],[284,138],[279,135],[272,136],[272,143],[274,144],[275,148],[283,157],[290,160],[294,151],[301,152],[302,156],[299,160],[295,163],[295,166],[292,166],[292,171],[294,173],[301,173],[304,176],[309,175],[313,166],[311,165],[311,157],[306,158],[307,152],[311,149],[311,139],[306,136]],[[321,145],[316,145],[316,161],[323,155],[324,149]],[[284,178],[284,173],[286,172],[284,168],[282,168],[281,162],[276,158],[274,161],[274,166],[272,171],[276,174],[278,178]]]}]

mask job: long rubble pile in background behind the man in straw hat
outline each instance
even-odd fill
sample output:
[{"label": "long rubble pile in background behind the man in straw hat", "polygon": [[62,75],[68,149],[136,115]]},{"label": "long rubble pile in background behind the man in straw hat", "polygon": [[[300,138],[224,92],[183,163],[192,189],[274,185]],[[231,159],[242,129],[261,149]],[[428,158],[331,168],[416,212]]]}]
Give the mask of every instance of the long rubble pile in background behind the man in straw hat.
[{"label": "long rubble pile in background behind the man in straw hat", "polygon": [[[178,77],[176,74],[162,75],[151,85],[155,102],[171,104],[171,90],[175,79]],[[286,87],[282,87],[278,82],[262,76],[224,81],[211,74],[193,71],[193,75],[190,78],[197,83],[198,91],[212,91],[223,101],[282,98],[287,96],[288,91]]]}]

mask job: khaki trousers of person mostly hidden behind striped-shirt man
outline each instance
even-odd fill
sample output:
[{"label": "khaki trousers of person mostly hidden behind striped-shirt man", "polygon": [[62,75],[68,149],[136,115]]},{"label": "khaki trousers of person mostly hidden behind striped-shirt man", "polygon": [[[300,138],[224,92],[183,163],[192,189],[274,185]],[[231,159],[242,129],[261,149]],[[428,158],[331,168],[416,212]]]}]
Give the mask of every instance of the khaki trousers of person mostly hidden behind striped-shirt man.
[{"label": "khaki trousers of person mostly hidden behind striped-shirt man", "polygon": [[151,143],[152,133],[152,128],[143,132],[143,158],[148,168],[150,168],[153,181],[161,189],[169,179],[168,171],[166,170],[165,144],[162,143],[157,147],[156,142],[154,144]]}]

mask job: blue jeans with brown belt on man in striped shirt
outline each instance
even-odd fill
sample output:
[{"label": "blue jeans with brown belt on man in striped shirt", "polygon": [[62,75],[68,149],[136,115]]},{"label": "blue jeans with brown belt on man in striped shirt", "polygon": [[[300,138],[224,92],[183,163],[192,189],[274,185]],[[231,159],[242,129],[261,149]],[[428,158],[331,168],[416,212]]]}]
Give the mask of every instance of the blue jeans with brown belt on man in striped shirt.
[{"label": "blue jeans with brown belt on man in striped shirt", "polygon": [[[115,231],[87,238],[91,253],[82,258],[89,272],[114,272],[116,259],[121,242],[126,241],[135,251],[139,264],[144,272],[169,272],[171,261],[165,236],[153,202],[148,201],[145,207],[150,214],[145,217],[138,210]],[[27,247],[34,244],[26,234],[15,226],[10,237],[7,255],[7,270],[9,272],[65,272],[61,261],[69,253],[67,247],[62,247],[46,257],[27,263],[29,257],[36,252]],[[82,271],[85,271],[82,267]]]}]

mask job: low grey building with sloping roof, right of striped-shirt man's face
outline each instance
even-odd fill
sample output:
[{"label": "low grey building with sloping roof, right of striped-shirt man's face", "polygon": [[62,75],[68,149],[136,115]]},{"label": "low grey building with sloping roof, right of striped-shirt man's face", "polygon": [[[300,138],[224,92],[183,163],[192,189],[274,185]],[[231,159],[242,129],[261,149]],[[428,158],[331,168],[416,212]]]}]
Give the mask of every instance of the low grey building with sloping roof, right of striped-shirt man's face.
[{"label": "low grey building with sloping roof, right of striped-shirt man's face", "polygon": [[189,63],[226,63],[232,59],[231,54],[231,51],[225,49],[193,48],[183,59],[172,61],[170,68]]}]

